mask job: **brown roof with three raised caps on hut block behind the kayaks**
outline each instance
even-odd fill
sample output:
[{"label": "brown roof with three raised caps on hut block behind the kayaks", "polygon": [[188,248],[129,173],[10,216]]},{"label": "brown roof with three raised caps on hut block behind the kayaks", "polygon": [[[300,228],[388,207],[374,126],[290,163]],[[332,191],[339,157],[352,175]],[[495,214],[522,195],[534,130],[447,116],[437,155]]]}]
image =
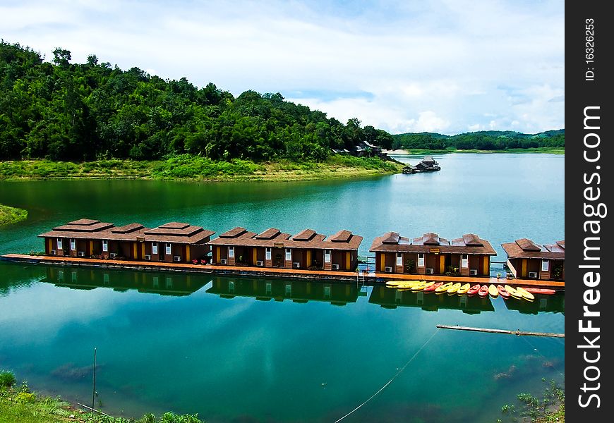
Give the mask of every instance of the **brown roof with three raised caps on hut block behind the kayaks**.
[{"label": "brown roof with three raised caps on hut block behind the kayaks", "polygon": [[[393,240],[397,239],[397,242]],[[425,233],[419,238],[410,240],[399,236],[396,232],[388,232],[375,238],[371,244],[370,252],[430,252],[437,247],[441,254],[478,254],[497,255],[495,249],[487,240],[483,240],[474,233],[467,233],[462,238],[452,240],[450,243],[436,233]]]}]

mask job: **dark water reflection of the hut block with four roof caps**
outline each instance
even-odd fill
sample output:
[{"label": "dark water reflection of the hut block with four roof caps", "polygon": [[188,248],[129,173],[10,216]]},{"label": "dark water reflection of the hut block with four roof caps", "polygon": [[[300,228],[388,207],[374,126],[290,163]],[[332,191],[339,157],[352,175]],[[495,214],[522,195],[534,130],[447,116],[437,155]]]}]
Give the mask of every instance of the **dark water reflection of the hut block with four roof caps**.
[{"label": "dark water reflection of the hut block with four roof caps", "polygon": [[323,283],[315,281],[282,281],[246,278],[213,278],[207,293],[222,298],[252,297],[256,300],[293,302],[325,301],[332,305],[356,302],[359,288],[352,283]]}]

